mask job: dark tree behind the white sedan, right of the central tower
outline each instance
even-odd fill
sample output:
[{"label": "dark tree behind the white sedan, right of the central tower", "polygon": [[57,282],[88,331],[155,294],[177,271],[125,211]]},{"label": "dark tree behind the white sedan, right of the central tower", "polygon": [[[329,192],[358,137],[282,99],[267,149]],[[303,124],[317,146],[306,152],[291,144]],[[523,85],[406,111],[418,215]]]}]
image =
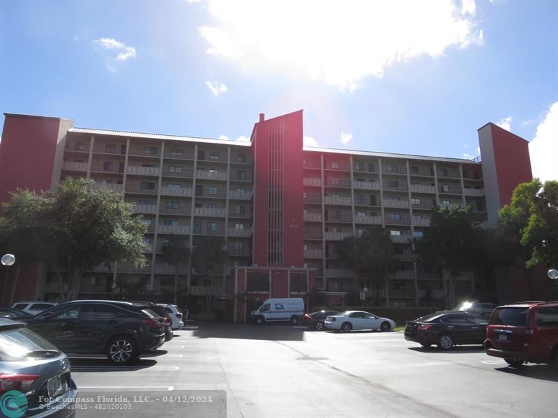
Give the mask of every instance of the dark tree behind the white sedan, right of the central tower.
[{"label": "dark tree behind the white sedan, right of the central tower", "polygon": [[363,287],[374,289],[379,304],[382,279],[390,279],[398,266],[389,231],[373,229],[344,238],[336,252],[342,265],[354,272],[356,280],[361,279]]}]

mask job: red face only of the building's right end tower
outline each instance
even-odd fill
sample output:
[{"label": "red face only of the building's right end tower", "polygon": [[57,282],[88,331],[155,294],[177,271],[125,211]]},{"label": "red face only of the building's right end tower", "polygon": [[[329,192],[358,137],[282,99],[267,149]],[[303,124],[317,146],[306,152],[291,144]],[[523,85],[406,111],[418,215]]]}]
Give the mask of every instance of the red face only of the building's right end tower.
[{"label": "red face only of the building's right end tower", "polygon": [[529,143],[497,125],[491,125],[494,160],[498,176],[500,204],[511,201],[513,189],[520,183],[531,181]]}]

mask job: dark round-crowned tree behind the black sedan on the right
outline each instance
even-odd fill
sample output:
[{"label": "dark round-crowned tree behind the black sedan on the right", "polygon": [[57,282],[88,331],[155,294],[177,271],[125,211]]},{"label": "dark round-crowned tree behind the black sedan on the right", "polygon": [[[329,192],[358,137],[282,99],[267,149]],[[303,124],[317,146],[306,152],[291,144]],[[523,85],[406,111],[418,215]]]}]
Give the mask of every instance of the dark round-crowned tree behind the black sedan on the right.
[{"label": "dark round-crowned tree behind the black sedan on the right", "polygon": [[462,271],[476,268],[476,254],[481,228],[472,208],[436,208],[430,228],[423,238],[414,240],[418,261],[427,268],[446,270],[451,274],[446,289],[446,304],[455,304],[455,280]]}]

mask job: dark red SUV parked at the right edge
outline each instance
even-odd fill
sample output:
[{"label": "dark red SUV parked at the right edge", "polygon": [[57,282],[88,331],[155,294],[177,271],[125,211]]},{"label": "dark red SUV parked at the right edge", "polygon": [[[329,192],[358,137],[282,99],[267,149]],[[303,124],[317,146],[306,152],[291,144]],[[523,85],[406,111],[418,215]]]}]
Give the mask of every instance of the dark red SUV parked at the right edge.
[{"label": "dark red SUV parked at the right edge", "polygon": [[486,354],[513,367],[547,363],[558,369],[558,301],[518,302],[497,307],[484,341]]}]

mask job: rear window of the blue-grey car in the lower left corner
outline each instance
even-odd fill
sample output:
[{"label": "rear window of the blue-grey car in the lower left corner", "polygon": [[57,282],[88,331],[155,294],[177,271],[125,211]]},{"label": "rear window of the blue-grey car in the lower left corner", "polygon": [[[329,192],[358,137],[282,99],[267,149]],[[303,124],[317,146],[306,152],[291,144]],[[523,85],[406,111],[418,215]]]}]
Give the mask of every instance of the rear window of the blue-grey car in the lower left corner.
[{"label": "rear window of the blue-grey car in the lower left corner", "polygon": [[0,330],[0,361],[20,362],[36,357],[54,357],[61,352],[25,327]]}]

